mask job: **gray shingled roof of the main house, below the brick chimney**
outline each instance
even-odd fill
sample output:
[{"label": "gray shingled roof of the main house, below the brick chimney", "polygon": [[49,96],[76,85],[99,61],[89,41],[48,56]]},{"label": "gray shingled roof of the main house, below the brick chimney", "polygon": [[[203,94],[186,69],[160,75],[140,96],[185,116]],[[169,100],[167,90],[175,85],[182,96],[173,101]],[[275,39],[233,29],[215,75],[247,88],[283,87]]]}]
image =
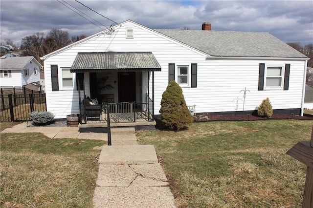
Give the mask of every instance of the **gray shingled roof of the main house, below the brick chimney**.
[{"label": "gray shingled roof of the main house, below the brick chimney", "polygon": [[306,57],[269,33],[155,30],[214,57]]}]

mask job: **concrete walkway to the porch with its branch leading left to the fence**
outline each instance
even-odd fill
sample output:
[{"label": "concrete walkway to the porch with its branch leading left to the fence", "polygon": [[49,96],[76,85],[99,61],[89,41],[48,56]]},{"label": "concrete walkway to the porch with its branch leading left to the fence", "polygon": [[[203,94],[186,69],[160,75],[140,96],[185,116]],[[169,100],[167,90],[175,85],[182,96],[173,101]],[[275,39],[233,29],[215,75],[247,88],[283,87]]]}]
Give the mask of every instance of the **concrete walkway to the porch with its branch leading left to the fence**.
[{"label": "concrete walkway to the porch with its branch leading left to the fence", "polygon": [[[79,132],[78,127],[26,127],[25,123],[2,132],[41,132],[49,138],[108,138],[107,133]],[[112,146],[104,145],[99,157],[94,208],[175,208],[154,146],[138,145],[133,127],[112,128],[111,134]]]}]

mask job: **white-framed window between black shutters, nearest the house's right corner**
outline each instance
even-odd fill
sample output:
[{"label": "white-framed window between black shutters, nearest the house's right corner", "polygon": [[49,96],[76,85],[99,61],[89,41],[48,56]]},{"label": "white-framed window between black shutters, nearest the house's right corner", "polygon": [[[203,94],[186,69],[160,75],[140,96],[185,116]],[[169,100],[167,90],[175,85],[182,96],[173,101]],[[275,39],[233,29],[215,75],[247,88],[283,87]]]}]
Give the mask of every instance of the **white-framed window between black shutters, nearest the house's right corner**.
[{"label": "white-framed window between black shutters, nearest the house's right corner", "polygon": [[266,68],[265,88],[266,89],[283,89],[284,79],[283,66],[268,66]]}]

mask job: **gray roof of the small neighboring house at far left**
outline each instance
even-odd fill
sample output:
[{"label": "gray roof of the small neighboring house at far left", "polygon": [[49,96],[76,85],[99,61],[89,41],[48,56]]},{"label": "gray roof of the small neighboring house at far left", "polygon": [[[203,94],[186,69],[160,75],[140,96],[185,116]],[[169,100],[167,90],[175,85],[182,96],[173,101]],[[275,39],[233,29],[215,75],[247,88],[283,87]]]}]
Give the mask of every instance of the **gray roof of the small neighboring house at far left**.
[{"label": "gray roof of the small neighboring house at far left", "polygon": [[23,69],[34,57],[6,57],[0,58],[1,69]]}]

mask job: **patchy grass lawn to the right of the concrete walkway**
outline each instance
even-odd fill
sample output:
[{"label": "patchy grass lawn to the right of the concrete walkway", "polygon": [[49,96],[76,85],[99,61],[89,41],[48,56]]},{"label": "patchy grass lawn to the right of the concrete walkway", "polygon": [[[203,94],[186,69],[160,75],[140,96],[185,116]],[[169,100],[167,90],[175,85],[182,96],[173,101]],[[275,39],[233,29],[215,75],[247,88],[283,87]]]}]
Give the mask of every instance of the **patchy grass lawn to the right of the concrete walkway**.
[{"label": "patchy grass lawn to the right of the concrete walkway", "polygon": [[194,123],[138,132],[153,144],[178,207],[301,207],[306,167],[287,155],[310,140],[312,120]]}]

